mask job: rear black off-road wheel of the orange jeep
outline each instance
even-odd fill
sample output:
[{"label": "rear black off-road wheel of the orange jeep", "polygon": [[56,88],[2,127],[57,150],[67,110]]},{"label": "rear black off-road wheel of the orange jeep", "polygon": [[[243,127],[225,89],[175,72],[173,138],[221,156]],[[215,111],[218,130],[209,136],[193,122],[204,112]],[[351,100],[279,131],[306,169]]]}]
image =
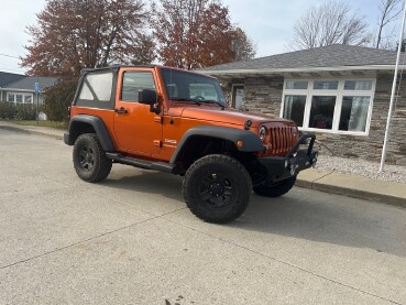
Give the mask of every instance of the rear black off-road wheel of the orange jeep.
[{"label": "rear black off-road wheel of the orange jeep", "polygon": [[94,133],[84,133],[76,139],[73,160],[77,175],[86,182],[99,182],[110,174],[112,162]]}]

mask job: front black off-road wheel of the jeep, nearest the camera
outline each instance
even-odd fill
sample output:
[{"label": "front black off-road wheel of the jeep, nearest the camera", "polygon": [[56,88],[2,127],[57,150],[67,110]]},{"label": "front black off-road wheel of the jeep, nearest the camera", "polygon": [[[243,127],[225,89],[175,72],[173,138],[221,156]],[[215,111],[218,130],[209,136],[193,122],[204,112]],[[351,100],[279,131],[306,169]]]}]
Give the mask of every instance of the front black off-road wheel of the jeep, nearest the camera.
[{"label": "front black off-road wheel of the jeep, nearest the camera", "polygon": [[190,211],[212,224],[230,222],[246,209],[252,182],[235,159],[211,154],[197,160],[186,172],[183,194]]}]

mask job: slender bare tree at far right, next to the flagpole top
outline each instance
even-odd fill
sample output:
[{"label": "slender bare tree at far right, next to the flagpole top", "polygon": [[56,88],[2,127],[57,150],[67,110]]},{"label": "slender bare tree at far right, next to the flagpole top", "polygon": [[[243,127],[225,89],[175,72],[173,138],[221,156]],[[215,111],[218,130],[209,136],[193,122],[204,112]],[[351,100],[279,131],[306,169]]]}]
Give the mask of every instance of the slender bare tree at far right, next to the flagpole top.
[{"label": "slender bare tree at far right, next to the flagpole top", "polygon": [[[384,28],[392,21],[396,20],[402,12],[402,8],[399,8],[399,3],[403,2],[400,0],[381,0],[380,1],[380,18],[377,24],[377,37],[375,47],[386,48],[385,46],[392,45],[391,42],[384,42],[384,46],[382,45],[382,40],[384,39],[383,32]],[[387,40],[387,37],[386,37]]]}]

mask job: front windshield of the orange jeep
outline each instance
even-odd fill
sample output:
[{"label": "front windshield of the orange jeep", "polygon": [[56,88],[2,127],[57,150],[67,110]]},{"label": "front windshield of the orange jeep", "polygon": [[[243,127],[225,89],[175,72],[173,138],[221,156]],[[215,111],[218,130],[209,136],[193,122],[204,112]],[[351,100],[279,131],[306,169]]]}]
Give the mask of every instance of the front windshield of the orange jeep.
[{"label": "front windshield of the orange jeep", "polygon": [[162,76],[169,100],[227,106],[220,85],[215,78],[169,68],[163,68]]}]

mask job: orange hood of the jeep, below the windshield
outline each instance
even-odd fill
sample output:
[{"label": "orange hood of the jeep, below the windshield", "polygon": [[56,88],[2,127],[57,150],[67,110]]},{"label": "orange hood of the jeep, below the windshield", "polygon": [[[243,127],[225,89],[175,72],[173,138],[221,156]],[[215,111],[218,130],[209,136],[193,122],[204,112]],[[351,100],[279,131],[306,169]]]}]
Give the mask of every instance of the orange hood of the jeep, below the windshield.
[{"label": "orange hood of the jeep, below the windshield", "polygon": [[223,110],[221,110],[220,107],[215,106],[185,107],[179,112],[182,113],[180,116],[183,118],[196,119],[201,121],[231,123],[237,126],[244,126],[246,120],[252,121],[252,127],[257,127],[260,123],[270,121],[292,122],[289,120],[277,118],[272,115],[261,115],[249,111],[239,111],[231,108],[224,108]]}]

